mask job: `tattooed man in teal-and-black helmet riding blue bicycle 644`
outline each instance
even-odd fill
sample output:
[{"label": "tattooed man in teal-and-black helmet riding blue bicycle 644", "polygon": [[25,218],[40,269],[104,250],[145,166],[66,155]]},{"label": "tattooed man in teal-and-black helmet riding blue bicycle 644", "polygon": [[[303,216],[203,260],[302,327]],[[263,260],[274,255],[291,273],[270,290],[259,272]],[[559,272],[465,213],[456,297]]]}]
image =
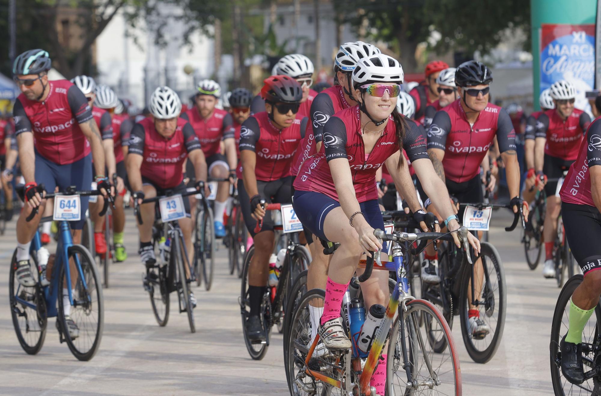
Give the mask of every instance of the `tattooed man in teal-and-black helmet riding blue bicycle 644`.
[{"label": "tattooed man in teal-and-black helmet riding blue bicycle 644", "polygon": [[[96,168],[96,182],[106,198],[108,180],[103,175],[105,157],[102,136],[94,121],[90,105],[76,85],[67,80],[49,81],[47,72],[52,61],[41,49],[27,50],[14,60],[13,76],[21,90],[13,108],[15,135],[19,146],[20,166],[25,178],[26,205],[17,221],[16,276],[25,287],[35,285],[29,265],[29,246],[37,231],[46,200],[37,182],[48,191],[55,187],[89,189],[92,177],[91,158]],[[90,156],[91,152],[91,156]],[[38,210],[32,221],[26,218]],[[81,243],[84,213],[88,198],[80,198],[81,220],[72,221],[73,242]],[[71,273],[76,273],[71,264]],[[46,276],[41,274],[44,279]],[[77,276],[71,279],[75,287]],[[47,280],[46,280],[47,281]],[[63,289],[64,314],[72,338],[79,329],[70,317],[71,305],[67,289]]]}]

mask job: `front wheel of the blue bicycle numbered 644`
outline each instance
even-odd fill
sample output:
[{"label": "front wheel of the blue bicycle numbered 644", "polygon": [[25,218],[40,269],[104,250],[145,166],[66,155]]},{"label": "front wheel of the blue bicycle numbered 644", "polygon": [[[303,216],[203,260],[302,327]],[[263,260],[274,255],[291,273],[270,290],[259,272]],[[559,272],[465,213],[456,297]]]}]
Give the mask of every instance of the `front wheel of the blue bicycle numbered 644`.
[{"label": "front wheel of the blue bicycle numbered 644", "polygon": [[[82,245],[73,245],[69,248],[69,261],[79,263],[81,278],[78,272],[71,271],[73,290],[73,305],[70,308],[70,316],[79,327],[79,337],[73,339],[67,331],[65,322],[63,296],[59,292],[58,297],[58,322],[60,331],[67,341],[67,346],[73,356],[81,361],[89,361],[94,357],[100,347],[102,331],[104,327],[104,301],[102,297],[102,285],[100,276],[96,269],[94,258]],[[68,264],[67,264],[68,265]],[[58,280],[58,290],[66,288],[65,282],[66,264],[61,268],[61,277]]]}]

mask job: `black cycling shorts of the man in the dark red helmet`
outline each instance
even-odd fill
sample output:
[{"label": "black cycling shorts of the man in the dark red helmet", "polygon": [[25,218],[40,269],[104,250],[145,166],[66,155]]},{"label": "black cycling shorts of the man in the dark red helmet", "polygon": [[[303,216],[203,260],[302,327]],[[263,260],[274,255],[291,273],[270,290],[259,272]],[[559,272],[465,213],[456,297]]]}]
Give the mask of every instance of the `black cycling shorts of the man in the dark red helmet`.
[{"label": "black cycling shorts of the man in the dark red helmet", "polygon": [[[290,204],[292,196],[290,195],[290,187],[292,185],[292,176],[284,177],[278,180],[262,181],[257,180],[257,190],[266,203],[268,204]],[[255,226],[257,221],[251,217],[251,197],[246,193],[244,181],[238,179],[238,196],[240,197],[240,209],[244,223],[251,236],[255,236]],[[273,219],[269,212],[263,218],[263,227],[261,231],[273,231]]]}]

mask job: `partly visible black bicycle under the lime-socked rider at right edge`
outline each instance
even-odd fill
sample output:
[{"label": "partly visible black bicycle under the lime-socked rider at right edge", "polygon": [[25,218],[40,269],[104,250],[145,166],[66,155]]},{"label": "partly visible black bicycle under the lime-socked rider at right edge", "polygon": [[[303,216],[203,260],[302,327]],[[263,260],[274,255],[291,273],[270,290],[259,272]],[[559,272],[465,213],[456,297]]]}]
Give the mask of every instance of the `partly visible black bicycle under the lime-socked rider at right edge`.
[{"label": "partly visible black bicycle under the lime-socked rider at right edge", "polygon": [[[572,276],[561,289],[557,298],[551,325],[551,342],[549,355],[551,379],[556,395],[581,394],[582,391],[592,395],[601,395],[601,303],[597,303],[594,314],[582,331],[582,364],[585,380],[581,385],[573,385],[561,373],[560,341],[569,328],[570,299],[576,288],[584,280],[584,275]],[[588,370],[587,370],[588,369]],[[567,389],[566,389],[567,387]]]}]

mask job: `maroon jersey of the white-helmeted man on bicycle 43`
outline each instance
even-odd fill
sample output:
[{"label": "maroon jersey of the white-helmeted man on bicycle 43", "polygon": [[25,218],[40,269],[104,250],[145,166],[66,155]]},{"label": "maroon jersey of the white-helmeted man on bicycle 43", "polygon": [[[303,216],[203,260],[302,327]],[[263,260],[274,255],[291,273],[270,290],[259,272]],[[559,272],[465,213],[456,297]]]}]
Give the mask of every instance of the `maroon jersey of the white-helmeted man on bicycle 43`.
[{"label": "maroon jersey of the white-helmeted man on bicycle 43", "polygon": [[144,118],[132,128],[128,153],[143,157],[142,176],[155,187],[170,189],[182,183],[184,160],[197,148],[201,148],[198,136],[183,118],[177,119],[177,127],[169,139],[156,132],[153,120]]}]

